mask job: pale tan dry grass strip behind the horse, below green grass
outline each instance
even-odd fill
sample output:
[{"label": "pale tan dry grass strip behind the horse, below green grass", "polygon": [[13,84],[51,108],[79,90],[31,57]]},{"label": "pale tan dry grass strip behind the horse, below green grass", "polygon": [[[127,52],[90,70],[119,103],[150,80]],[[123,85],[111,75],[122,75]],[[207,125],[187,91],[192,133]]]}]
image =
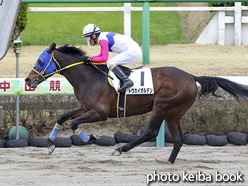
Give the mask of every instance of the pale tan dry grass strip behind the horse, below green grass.
[{"label": "pale tan dry grass strip behind the horse, below green grass", "polygon": [[[99,54],[99,46],[78,46],[89,56]],[[25,78],[33,68],[39,55],[46,46],[22,47],[20,56],[20,77]],[[151,46],[150,65],[148,67],[175,66],[194,75],[209,76],[247,76],[248,48],[245,46],[218,45],[166,45]],[[114,54],[111,54],[112,57]],[[16,77],[16,59],[13,49],[0,61],[0,78]],[[142,60],[130,64],[130,67],[142,64]]]}]

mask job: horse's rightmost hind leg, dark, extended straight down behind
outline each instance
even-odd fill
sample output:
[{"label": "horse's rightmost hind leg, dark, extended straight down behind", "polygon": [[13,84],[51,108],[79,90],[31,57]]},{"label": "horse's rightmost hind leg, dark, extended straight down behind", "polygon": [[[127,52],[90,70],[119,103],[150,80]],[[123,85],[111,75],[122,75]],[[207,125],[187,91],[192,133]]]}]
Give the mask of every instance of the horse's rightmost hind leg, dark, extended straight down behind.
[{"label": "horse's rightmost hind leg, dark, extended straight down behind", "polygon": [[180,127],[180,118],[169,118],[166,119],[167,126],[169,128],[169,131],[173,138],[173,150],[171,152],[171,155],[169,157],[169,162],[172,164],[175,162],[176,157],[183,145],[183,133]]}]

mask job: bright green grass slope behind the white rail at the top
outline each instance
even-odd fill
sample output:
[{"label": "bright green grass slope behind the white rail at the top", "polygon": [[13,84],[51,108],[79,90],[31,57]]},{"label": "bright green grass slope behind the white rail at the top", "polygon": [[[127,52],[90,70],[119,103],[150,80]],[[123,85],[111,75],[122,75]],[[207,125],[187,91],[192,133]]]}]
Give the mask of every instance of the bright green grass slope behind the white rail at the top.
[{"label": "bright green grass slope behind the white rail at the top", "polygon": [[[99,7],[123,6],[123,3],[30,4],[30,7]],[[133,3],[132,6],[142,6]],[[151,6],[173,6],[173,3],[151,3]],[[132,38],[142,45],[142,12],[132,12]],[[28,12],[28,24],[21,33],[23,45],[86,45],[82,29],[88,23],[102,31],[123,34],[123,12]],[[187,43],[182,36],[177,12],[150,12],[150,44]]]}]

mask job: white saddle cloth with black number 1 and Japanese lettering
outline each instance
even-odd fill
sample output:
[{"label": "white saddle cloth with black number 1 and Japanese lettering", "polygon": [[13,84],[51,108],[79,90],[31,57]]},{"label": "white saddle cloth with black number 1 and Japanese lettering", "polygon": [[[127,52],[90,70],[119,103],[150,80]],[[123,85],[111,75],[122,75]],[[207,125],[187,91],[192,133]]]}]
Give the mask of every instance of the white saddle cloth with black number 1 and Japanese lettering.
[{"label": "white saddle cloth with black number 1 and Japanese lettering", "polygon": [[[120,87],[120,80],[116,75],[109,71],[109,75],[114,79],[109,80],[109,84],[117,91]],[[134,85],[126,90],[126,95],[139,95],[139,94],[154,94],[152,73],[150,68],[141,68],[132,70],[129,78],[133,81]]]}]

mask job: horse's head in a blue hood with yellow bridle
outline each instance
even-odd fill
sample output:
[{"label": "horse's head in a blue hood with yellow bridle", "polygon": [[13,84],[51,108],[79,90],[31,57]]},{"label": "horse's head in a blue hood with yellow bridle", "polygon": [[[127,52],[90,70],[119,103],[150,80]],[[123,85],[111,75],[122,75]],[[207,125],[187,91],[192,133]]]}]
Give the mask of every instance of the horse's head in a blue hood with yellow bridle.
[{"label": "horse's head in a blue hood with yellow bridle", "polygon": [[36,88],[38,84],[55,74],[58,62],[54,58],[56,44],[45,49],[36,61],[34,68],[25,79],[28,86]]}]

